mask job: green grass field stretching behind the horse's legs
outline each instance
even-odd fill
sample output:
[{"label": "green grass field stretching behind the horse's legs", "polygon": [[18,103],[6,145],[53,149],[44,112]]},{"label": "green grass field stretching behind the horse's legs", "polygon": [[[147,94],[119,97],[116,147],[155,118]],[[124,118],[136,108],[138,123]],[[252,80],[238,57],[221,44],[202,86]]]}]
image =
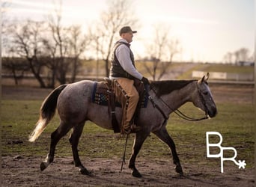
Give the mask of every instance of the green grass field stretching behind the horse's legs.
[{"label": "green grass field stretching behind the horse's legs", "polygon": [[[49,149],[50,134],[58,127],[55,116],[46,130],[35,143],[28,142],[28,135],[37,122],[41,100],[2,100],[1,102],[1,154],[2,156],[46,156]],[[173,138],[181,163],[197,162],[201,165],[219,165],[219,159],[206,158],[206,132],[217,131],[222,134],[223,147],[235,147],[237,160],[246,160],[246,167],[254,165],[254,109],[250,104],[217,103],[219,114],[211,120],[188,122],[171,114],[168,120],[168,132]],[[192,117],[201,117],[202,113],[192,104],[180,108]],[[127,157],[132,150],[132,137],[127,145]],[[72,156],[66,135],[57,145],[57,156]],[[15,143],[22,142],[21,144]],[[79,141],[80,156],[91,158],[112,158],[122,156],[124,139],[117,140],[112,131],[102,129],[93,123],[85,125]],[[230,153],[232,154],[232,153]],[[168,147],[151,134],[144,142],[138,159],[168,159],[171,153]],[[128,158],[127,158],[128,159]]]}]

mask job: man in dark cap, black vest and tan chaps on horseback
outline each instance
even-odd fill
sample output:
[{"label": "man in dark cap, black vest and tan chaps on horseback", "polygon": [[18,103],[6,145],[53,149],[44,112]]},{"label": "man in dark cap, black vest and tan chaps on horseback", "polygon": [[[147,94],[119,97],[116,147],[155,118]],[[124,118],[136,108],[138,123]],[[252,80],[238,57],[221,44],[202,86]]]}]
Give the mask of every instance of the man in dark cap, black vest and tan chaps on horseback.
[{"label": "man in dark cap, black vest and tan chaps on horseback", "polygon": [[138,130],[138,128],[132,124],[132,117],[139,99],[134,81],[138,79],[143,82],[144,85],[149,84],[147,78],[136,70],[134,56],[132,50],[129,48],[129,43],[132,42],[133,34],[136,32],[137,31],[132,31],[129,26],[125,26],[119,31],[121,39],[115,43],[109,75],[110,79],[115,80],[115,94],[122,103],[123,119],[121,133],[126,134],[129,134],[132,130]]}]

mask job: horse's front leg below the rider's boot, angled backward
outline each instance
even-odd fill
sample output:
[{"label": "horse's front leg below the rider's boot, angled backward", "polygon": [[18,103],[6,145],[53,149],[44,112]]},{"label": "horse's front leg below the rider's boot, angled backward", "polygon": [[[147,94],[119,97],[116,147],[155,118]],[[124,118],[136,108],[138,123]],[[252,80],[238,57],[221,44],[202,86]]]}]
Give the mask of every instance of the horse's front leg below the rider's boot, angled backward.
[{"label": "horse's front leg below the rider's boot, angled backward", "polygon": [[132,155],[129,159],[129,168],[132,170],[133,177],[142,177],[137,168],[135,168],[135,159],[139,150],[141,150],[142,144],[149,134],[150,133],[144,132],[143,130],[140,130],[135,134],[135,140],[132,147]]}]

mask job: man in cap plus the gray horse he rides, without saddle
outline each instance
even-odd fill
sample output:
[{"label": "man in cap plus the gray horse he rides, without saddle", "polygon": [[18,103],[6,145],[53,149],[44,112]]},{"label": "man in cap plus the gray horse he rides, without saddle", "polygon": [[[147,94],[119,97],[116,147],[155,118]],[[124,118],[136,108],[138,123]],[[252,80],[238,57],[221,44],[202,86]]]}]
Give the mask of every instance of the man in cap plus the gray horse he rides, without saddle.
[{"label": "man in cap plus the gray horse he rides, without saddle", "polygon": [[[133,177],[141,177],[141,174],[135,167],[135,159],[138,156],[142,144],[150,133],[153,132],[154,135],[168,145],[173,157],[175,171],[183,175],[183,169],[180,165],[180,159],[174,141],[166,129],[167,120],[172,112],[176,111],[177,108],[180,108],[186,102],[192,102],[193,105],[204,111],[206,117],[201,119],[207,119],[208,116],[216,116],[216,104],[207,83],[209,73],[199,80],[151,82],[152,88],[148,91],[148,99],[151,98],[151,102],[148,102],[147,108],[141,108],[139,116],[135,119],[140,130],[131,129],[132,115],[135,112],[139,99],[138,92],[133,84],[137,82],[148,84],[148,80],[141,76],[135,69],[134,58],[129,49],[129,43],[132,42],[132,32],[135,33],[129,27],[121,28],[121,40],[115,46],[110,74],[111,78],[114,79],[113,82],[115,82],[113,84],[114,88],[116,88],[115,92],[119,93],[118,99],[124,101],[121,102],[123,111],[121,111],[121,108],[117,108],[118,122],[121,123],[122,121],[124,125],[122,129],[123,133],[129,134],[132,130],[135,132],[128,167],[132,171],[131,174]],[[55,148],[58,141],[64,135],[67,135],[70,129],[73,129],[69,138],[72,147],[73,162],[79,168],[81,174],[91,174],[91,171],[88,171],[82,165],[78,152],[79,138],[82,135],[86,121],[90,120],[105,129],[114,129],[111,116],[106,115],[109,112],[109,107],[97,105],[97,103],[93,102],[94,88],[95,82],[89,80],[60,85],[44,99],[40,108],[40,117],[37,121],[37,126],[31,132],[29,141],[35,141],[43,130],[46,129],[46,126],[55,115],[56,108],[60,118],[60,125],[50,136],[49,153],[46,159],[40,164],[41,171],[45,170],[54,161]],[[176,114],[178,113],[176,112]],[[193,120],[193,118],[187,117],[186,115],[185,118]]]}]

